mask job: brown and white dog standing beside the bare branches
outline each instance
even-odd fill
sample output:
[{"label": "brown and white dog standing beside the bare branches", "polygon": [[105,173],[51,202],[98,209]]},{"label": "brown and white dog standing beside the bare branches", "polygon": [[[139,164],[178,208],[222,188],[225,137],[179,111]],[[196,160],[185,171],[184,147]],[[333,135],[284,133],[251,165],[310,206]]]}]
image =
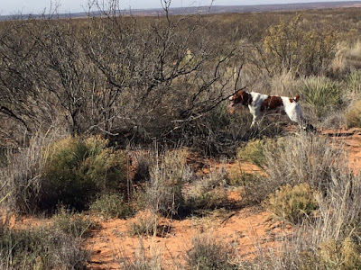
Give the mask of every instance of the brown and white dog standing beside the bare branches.
[{"label": "brown and white dog standing beside the bare branches", "polygon": [[304,130],[314,130],[313,126],[307,124],[300,107],[300,95],[293,98],[286,96],[260,94],[256,92],[245,92],[239,90],[236,94],[229,97],[230,108],[237,103],[248,106],[249,112],[253,115],[251,127],[258,123],[262,114],[285,113],[291,119],[300,124]]}]

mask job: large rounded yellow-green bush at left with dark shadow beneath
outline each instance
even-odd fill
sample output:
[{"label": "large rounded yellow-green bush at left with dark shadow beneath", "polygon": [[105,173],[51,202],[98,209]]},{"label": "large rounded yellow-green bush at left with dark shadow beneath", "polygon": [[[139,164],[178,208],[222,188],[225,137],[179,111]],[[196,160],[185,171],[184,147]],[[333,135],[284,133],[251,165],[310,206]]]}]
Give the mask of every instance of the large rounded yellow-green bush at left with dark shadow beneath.
[{"label": "large rounded yellow-green bush at left with dark shadow beneath", "polygon": [[50,145],[42,174],[42,207],[60,202],[76,210],[87,209],[98,193],[125,186],[125,154],[106,148],[100,137],[69,137]]}]

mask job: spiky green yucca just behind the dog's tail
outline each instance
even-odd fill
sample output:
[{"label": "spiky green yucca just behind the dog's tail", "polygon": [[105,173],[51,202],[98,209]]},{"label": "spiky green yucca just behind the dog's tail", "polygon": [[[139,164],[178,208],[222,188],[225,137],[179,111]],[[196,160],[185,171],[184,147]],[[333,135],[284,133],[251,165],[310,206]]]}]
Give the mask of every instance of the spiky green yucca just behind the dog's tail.
[{"label": "spiky green yucca just behind the dog's tail", "polygon": [[327,77],[311,76],[301,88],[302,101],[319,119],[338,108],[342,103],[338,85]]}]

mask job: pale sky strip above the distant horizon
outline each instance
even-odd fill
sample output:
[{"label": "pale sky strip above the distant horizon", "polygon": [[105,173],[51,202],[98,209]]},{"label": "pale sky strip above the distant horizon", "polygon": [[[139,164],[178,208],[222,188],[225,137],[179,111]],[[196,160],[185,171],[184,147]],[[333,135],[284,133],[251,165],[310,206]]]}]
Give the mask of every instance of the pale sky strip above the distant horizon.
[{"label": "pale sky strip above the distant horizon", "polygon": [[[90,0],[91,1],[91,0]],[[98,2],[108,0],[98,0]],[[142,9],[162,7],[164,0],[119,0],[121,9]],[[170,0],[166,0],[170,1]],[[242,4],[290,4],[306,2],[338,2],[342,0],[213,0],[213,5]],[[42,14],[49,11],[54,3],[59,4],[59,13],[78,13],[88,11],[89,0],[0,0],[0,15]],[[171,7],[209,5],[211,0],[171,0]]]}]

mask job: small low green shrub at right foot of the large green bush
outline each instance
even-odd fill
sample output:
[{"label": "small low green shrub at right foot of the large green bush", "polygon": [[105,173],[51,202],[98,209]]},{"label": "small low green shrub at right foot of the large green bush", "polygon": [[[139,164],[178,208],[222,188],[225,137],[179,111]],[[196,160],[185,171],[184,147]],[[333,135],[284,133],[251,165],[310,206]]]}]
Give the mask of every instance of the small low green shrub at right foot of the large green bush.
[{"label": "small low green shrub at right foot of the large green bush", "polygon": [[105,218],[125,219],[133,215],[132,207],[120,194],[102,194],[90,204],[89,210]]}]

